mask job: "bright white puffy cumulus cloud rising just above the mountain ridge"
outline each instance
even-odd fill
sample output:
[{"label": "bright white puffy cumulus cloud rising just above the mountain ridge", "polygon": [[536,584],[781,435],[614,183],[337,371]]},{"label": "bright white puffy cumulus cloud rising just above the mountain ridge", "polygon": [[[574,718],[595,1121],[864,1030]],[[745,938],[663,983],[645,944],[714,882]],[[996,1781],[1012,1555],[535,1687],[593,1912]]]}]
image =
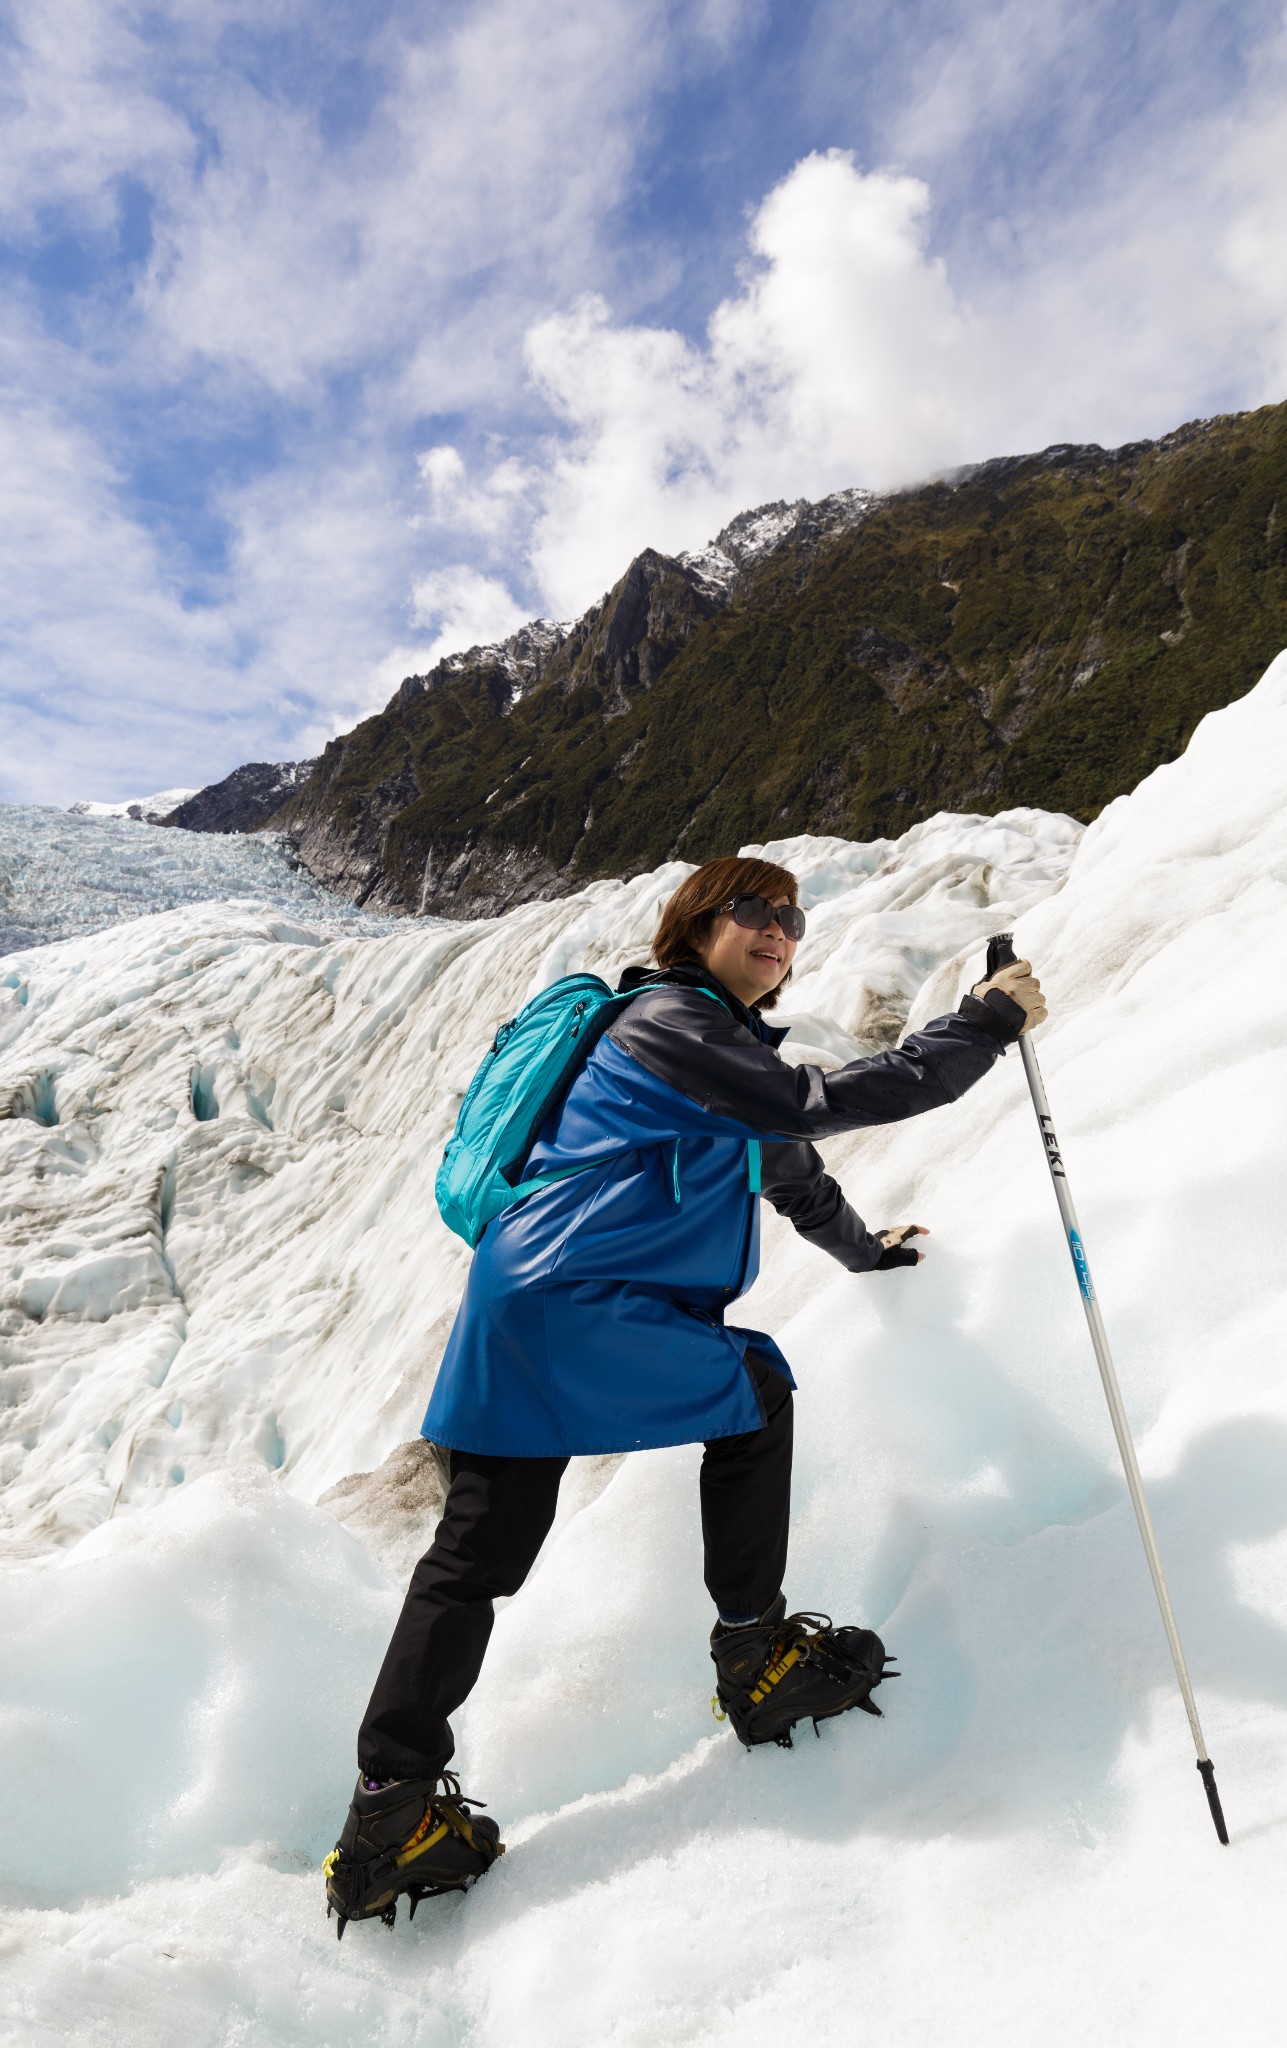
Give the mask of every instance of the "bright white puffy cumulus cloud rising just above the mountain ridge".
[{"label": "bright white puffy cumulus cloud rising just above the mountain ridge", "polygon": [[758,209],[754,264],[705,348],[617,328],[600,299],[531,330],[531,375],[566,426],[531,547],[559,614],[648,543],[697,547],[742,506],[959,457],[975,338],[926,236],[916,178],[816,154]]}]

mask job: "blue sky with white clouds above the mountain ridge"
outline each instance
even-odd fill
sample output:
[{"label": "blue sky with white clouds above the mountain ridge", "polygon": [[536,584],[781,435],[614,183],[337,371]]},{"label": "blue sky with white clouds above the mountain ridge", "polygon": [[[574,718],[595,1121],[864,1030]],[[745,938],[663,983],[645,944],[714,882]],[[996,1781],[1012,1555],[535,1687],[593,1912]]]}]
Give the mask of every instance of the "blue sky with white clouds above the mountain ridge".
[{"label": "blue sky with white clouds above the mountain ridge", "polygon": [[18,0],[0,797],[295,758],[644,545],[1287,397],[1281,8]]}]

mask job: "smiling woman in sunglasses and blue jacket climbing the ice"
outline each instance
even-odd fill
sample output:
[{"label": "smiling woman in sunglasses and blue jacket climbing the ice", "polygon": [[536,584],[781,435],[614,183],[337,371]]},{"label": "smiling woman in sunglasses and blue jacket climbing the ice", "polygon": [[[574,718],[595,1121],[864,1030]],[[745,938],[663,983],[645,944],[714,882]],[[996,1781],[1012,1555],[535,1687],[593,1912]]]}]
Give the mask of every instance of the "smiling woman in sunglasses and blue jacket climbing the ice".
[{"label": "smiling woman in sunglasses and blue jacket climbing the ice", "polygon": [[[447,1763],[492,1602],[516,1593],[553,1522],[568,1458],[705,1444],[701,1528],[717,1696],[752,1745],[871,1706],[885,1653],[867,1628],[787,1614],[791,1391],[771,1337],[725,1323],[758,1270],[758,1194],[848,1272],[914,1266],[873,1235],[812,1141],[955,1102],[1045,1016],[1027,961],[980,983],[898,1051],[824,1073],[779,1057],[764,1022],[805,918],[771,860],[709,860],[666,903],[654,969],[537,1135],[525,1176],[582,1171],[482,1235],[424,1417],[451,1489],[416,1565],[359,1733],[359,1782],[326,1860],[328,1909],[396,1915],[465,1888],[502,1851]],[[660,983],[660,985],[658,985]],[[875,1712],[875,1708],[871,1708]]]}]

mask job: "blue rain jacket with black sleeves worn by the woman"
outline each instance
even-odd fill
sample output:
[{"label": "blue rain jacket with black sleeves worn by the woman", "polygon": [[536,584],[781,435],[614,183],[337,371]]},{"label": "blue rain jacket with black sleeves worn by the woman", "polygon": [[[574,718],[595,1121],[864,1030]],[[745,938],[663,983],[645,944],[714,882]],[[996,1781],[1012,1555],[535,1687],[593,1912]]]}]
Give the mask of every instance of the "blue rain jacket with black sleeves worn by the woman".
[{"label": "blue rain jacket with black sleeves worn by the woman", "polygon": [[949,1102],[1014,1036],[965,997],[965,1016],[824,1075],[787,1067],[785,1030],[695,985],[717,987],[709,975],[670,979],[598,1040],[525,1174],[588,1169],[486,1227],[424,1417],[430,1442],[553,1458],[758,1430],[746,1350],[795,1384],[769,1335],[723,1321],[758,1272],[760,1149],[777,1206],[867,1270],[881,1247],[807,1139]]}]

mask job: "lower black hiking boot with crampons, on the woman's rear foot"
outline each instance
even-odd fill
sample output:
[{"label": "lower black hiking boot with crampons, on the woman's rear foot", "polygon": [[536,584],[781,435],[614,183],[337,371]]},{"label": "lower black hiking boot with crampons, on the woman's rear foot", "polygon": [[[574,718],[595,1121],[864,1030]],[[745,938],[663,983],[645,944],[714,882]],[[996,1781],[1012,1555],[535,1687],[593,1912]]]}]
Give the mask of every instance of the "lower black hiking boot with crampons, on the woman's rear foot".
[{"label": "lower black hiking boot with crampons, on the woman's rear foot", "polygon": [[422,1898],[467,1890],[504,1855],[496,1821],[469,1804],[453,1772],[387,1786],[359,1778],[340,1839],[322,1864],[326,1917],[340,1915],[338,1939],[350,1919],[381,1919],[391,1927],[400,1892],[414,1919]]}]

